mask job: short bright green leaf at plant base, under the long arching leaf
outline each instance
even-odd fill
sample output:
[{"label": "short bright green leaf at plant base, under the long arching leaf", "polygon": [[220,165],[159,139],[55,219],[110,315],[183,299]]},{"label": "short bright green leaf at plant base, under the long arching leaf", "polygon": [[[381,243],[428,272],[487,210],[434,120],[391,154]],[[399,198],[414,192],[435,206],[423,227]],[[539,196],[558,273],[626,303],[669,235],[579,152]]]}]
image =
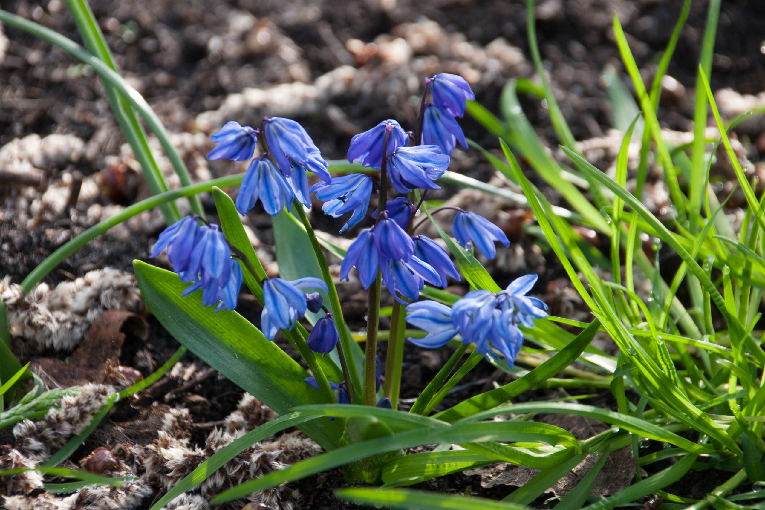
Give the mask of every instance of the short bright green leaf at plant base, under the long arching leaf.
[{"label": "short bright green leaf at plant base, under the long arching leaf", "polygon": [[386,486],[409,486],[438,476],[485,466],[495,460],[469,450],[423,452],[394,457],[382,465]]}]

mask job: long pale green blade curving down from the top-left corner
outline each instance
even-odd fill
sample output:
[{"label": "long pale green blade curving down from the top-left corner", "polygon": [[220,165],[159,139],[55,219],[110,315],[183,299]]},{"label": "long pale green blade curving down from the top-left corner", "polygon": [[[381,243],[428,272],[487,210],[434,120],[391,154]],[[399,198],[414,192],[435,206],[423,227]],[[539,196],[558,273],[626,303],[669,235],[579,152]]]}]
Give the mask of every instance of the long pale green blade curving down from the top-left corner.
[{"label": "long pale green blade curving down from the top-left corner", "polygon": [[[70,7],[72,5],[73,2],[70,2]],[[88,11],[90,11],[90,8],[88,8]],[[77,21],[78,15],[74,10],[73,15]],[[125,82],[124,79],[122,79],[122,76],[119,76],[119,73],[113,70],[112,67],[109,67],[109,64],[105,63],[98,57],[94,57],[93,54],[90,54],[87,50],[85,50],[85,48],[81,47],[71,39],[63,37],[63,35],[57,34],[49,28],[45,28],[41,24],[34,23],[34,21],[29,21],[27,19],[21,18],[21,16],[17,16],[11,14],[8,11],[2,10],[0,10],[0,21],[8,24],[8,26],[18,28],[18,30],[25,31],[28,34],[32,34],[35,37],[40,37],[42,40],[47,41],[50,44],[54,44],[54,46],[60,47],[62,50],[66,51],[68,54],[77,58],[81,62],[88,64],[90,67],[93,67],[93,70],[98,73],[101,80],[103,80],[104,84],[107,85],[107,89],[109,86],[113,87],[124,99],[127,100],[127,102],[129,102],[133,108],[138,110],[148,127],[151,128],[151,131],[154,132],[157,136],[160,144],[162,145],[162,148],[165,151],[165,154],[168,155],[168,158],[173,164],[176,174],[181,179],[181,184],[183,184],[184,187],[191,186],[191,177],[188,173],[186,165],[184,164],[181,156],[175,150],[174,145],[170,140],[170,135],[164,128],[164,125],[162,125],[162,122],[160,121],[157,114],[155,114],[154,110],[151,109],[151,106],[148,105],[148,102],[146,102],[141,94],[139,94],[138,91],[136,91],[132,86],[129,86],[129,84]],[[86,37],[83,36],[83,40],[86,40]],[[138,127],[140,127],[139,124]],[[204,216],[202,204],[197,197],[191,199],[190,203],[191,209],[194,211],[194,213],[197,213],[200,216]]]}]

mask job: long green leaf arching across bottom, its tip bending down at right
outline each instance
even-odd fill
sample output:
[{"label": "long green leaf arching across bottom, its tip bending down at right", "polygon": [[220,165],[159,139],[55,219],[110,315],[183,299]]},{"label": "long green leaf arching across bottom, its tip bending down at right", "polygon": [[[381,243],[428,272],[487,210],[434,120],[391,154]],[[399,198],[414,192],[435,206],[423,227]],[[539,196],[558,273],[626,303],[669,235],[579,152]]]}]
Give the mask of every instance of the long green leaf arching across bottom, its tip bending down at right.
[{"label": "long green leaf arching across bottom, its tip bending down at right", "polygon": [[[245,495],[278,486],[284,482],[321,473],[327,469],[343,466],[356,460],[369,456],[379,455],[404,448],[421,446],[424,444],[441,443],[487,443],[489,441],[535,441],[542,440],[545,443],[567,443],[577,445],[576,439],[567,431],[546,424],[524,424],[518,421],[504,421],[494,423],[470,423],[451,425],[449,427],[434,427],[428,429],[409,430],[388,437],[381,437],[362,443],[352,444],[348,447],[338,448],[322,455],[303,460],[288,468],[269,473],[262,478],[250,480],[232,489],[216,495],[210,501],[211,505],[239,499]],[[552,428],[551,428],[552,427]],[[557,453],[559,453],[558,450]],[[563,450],[565,453],[566,450]],[[529,457],[531,457],[529,455]],[[539,460],[543,460],[543,456]],[[557,460],[553,456],[552,463]]]}]

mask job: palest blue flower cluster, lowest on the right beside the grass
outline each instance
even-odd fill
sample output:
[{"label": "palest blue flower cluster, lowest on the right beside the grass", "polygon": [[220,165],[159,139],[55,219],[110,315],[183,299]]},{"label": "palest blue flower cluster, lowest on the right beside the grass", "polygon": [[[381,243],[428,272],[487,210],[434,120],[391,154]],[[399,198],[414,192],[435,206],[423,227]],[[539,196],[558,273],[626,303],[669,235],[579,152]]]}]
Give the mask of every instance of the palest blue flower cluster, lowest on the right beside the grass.
[{"label": "palest blue flower cluster, lowest on the right beside the grass", "polygon": [[547,305],[526,296],[536,280],[535,274],[527,274],[496,294],[470,291],[451,307],[435,301],[410,304],[406,321],[428,335],[409,341],[432,349],[444,346],[459,333],[463,343],[475,343],[484,356],[493,356],[493,346],[513,366],[523,343],[518,325],[533,327],[535,319],[547,317]]}]

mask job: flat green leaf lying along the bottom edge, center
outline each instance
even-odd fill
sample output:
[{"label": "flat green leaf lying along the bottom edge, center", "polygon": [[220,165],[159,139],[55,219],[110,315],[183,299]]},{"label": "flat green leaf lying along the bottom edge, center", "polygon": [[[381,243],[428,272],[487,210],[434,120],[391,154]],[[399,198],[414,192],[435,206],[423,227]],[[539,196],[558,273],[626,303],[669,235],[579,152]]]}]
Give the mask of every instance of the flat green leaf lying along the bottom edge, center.
[{"label": "flat green leaf lying along the bottom edge, center", "polygon": [[402,508],[402,510],[415,508],[417,510],[522,510],[528,508],[492,499],[412,489],[339,489],[335,491],[335,495],[339,499],[347,499],[359,505]]}]

